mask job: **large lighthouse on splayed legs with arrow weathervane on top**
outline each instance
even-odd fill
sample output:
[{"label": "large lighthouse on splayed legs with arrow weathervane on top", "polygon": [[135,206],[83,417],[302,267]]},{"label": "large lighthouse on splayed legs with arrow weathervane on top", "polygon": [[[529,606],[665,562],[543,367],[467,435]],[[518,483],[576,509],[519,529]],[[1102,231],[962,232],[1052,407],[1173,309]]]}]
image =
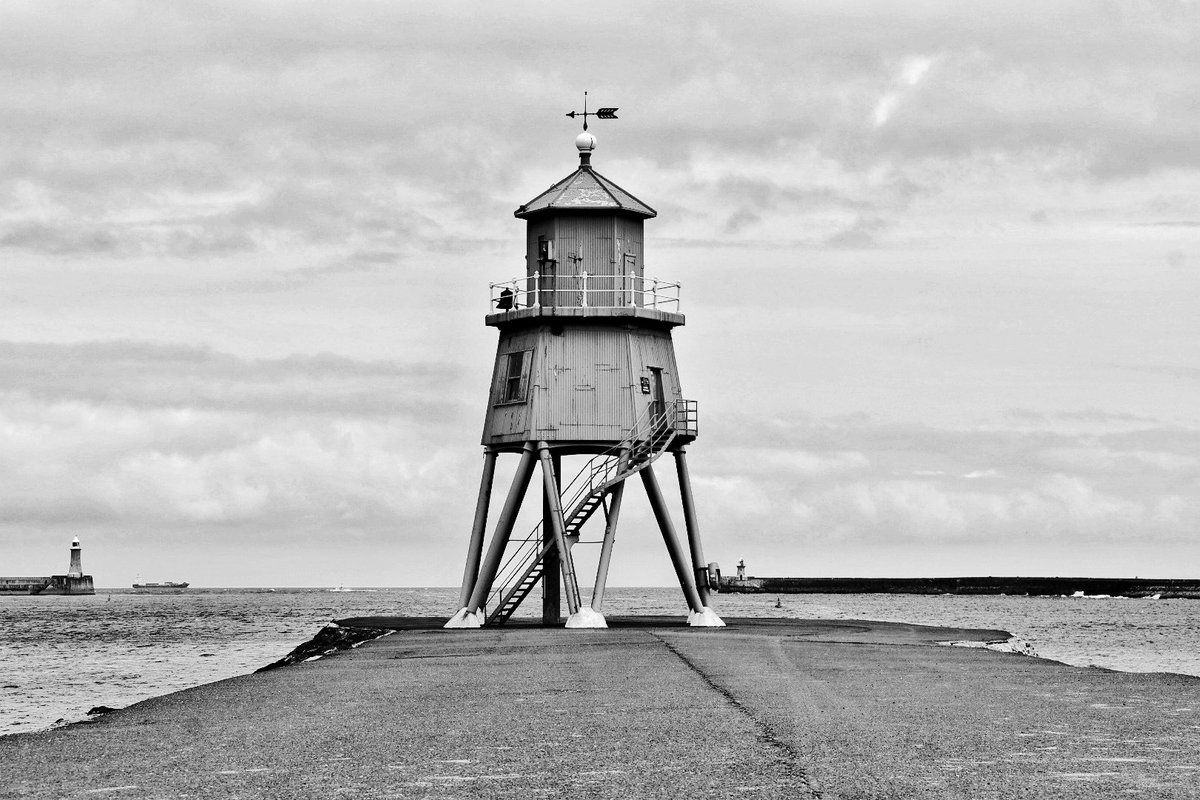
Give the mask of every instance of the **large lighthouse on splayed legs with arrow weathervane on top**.
[{"label": "large lighthouse on splayed legs with arrow weathervane on top", "polygon": [[[616,109],[601,109],[604,112]],[[584,109],[586,112],[586,109]],[[572,114],[574,116],[574,114]],[[601,613],[622,498],[629,480],[646,489],[688,602],[690,625],[724,625],[708,607],[684,449],[696,438],[671,339],[684,324],[679,284],[647,277],[643,223],[654,209],[592,167],[596,140],[575,140],[580,166],[516,210],[526,221],[524,275],[492,284],[486,324],[499,330],[484,421],[484,470],[467,552],[461,609],[446,627],[503,625],[542,584],[542,621],[605,627]],[[520,457],[485,552],[497,458]],[[655,467],[674,461],[686,548],[668,513]],[[587,457],[564,475],[563,458]],[[664,459],[668,461],[668,459]],[[541,522],[514,533],[534,474]],[[572,548],[584,523],[599,543],[592,597],[580,596]]]}]

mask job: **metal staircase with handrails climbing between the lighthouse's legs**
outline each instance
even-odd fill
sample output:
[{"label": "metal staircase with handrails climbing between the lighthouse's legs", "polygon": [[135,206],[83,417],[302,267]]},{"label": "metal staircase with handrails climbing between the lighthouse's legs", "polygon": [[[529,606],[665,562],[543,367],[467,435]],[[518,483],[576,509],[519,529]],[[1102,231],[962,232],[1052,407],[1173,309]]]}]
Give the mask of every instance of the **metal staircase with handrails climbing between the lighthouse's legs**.
[{"label": "metal staircase with handrails climbing between the lighthouse's legs", "polygon": [[[598,509],[605,509],[607,516],[605,498],[612,487],[653,464],[678,437],[695,437],[696,422],[696,401],[679,399],[659,408],[652,405],[634,423],[625,439],[592,457],[560,492],[568,547],[578,541],[580,529]],[[528,536],[510,540],[509,543],[516,545],[516,548],[500,565],[496,588],[484,606],[493,606],[487,614],[487,625],[503,625],[512,616],[521,601],[538,585],[545,570],[545,557],[556,547],[553,539],[544,541],[540,522]],[[574,600],[578,606],[580,599]]]}]

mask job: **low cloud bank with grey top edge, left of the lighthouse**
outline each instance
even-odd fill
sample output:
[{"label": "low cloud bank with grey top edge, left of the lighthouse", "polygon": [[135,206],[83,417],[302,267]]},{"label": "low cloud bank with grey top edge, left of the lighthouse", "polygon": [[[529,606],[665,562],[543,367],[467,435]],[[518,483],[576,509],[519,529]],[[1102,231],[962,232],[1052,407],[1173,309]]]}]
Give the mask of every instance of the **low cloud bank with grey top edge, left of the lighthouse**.
[{"label": "low cloud bank with grey top edge, left of the lighthouse", "polygon": [[446,445],[478,420],[458,381],[440,363],[0,343],[0,527],[432,529],[470,492]]}]

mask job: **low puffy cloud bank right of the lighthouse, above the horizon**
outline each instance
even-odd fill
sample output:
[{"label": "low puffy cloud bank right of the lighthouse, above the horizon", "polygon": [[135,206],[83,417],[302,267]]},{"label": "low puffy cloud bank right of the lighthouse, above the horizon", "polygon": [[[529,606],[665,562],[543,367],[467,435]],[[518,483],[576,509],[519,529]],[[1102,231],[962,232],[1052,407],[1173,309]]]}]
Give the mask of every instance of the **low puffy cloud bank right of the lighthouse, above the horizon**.
[{"label": "low puffy cloud bank right of the lighthouse, above the horizon", "polygon": [[706,429],[712,449],[692,474],[716,487],[731,528],[766,518],[814,540],[1153,539],[1200,524],[1200,429],[956,431],[863,417]]}]

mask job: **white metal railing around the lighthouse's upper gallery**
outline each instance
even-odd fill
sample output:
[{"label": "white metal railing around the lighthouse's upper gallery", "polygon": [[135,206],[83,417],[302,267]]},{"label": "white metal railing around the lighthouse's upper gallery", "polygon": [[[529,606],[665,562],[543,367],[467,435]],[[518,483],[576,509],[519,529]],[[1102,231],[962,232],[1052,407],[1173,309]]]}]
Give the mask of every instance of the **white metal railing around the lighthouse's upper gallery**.
[{"label": "white metal railing around the lighthouse's upper gallery", "polygon": [[654,308],[679,313],[679,284],[638,275],[534,272],[491,284],[493,311]]}]

